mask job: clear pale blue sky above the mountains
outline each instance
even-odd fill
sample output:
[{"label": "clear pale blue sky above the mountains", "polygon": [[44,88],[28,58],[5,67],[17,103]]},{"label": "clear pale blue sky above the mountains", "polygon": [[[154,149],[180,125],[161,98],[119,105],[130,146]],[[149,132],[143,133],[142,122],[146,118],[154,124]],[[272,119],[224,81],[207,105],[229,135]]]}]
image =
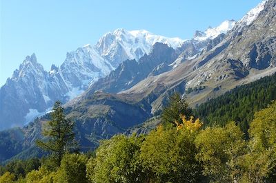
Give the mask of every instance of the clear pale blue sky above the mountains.
[{"label": "clear pale blue sky above the mountains", "polygon": [[241,19],[262,0],[0,0],[0,85],[27,55],[44,69],[61,65],[66,52],[95,44],[117,28],[189,39],[195,30]]}]

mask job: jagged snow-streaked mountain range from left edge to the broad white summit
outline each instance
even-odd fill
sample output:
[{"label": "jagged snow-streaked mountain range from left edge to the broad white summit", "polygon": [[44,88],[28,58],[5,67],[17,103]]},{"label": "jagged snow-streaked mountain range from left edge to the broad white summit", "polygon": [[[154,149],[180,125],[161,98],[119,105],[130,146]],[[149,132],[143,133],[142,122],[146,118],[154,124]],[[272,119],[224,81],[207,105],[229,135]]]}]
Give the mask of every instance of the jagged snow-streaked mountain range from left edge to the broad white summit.
[{"label": "jagged snow-streaked mountain range from left edge to the broad white summit", "polygon": [[85,45],[68,52],[62,65],[52,65],[50,72],[37,63],[34,54],[27,56],[0,89],[0,130],[22,127],[50,110],[55,100],[65,103],[75,98],[121,62],[138,60],[149,53],[157,41],[174,47],[184,42],[146,30],[120,29],[105,34],[95,46]]}]

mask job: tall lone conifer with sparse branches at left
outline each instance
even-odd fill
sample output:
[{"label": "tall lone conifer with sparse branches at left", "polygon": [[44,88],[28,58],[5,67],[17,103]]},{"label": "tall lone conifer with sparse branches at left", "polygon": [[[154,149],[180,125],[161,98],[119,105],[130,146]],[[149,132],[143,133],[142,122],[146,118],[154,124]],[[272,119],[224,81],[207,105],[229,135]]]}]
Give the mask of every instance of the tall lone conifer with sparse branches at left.
[{"label": "tall lone conifer with sparse branches at left", "polygon": [[74,140],[74,122],[65,118],[61,102],[55,102],[52,110],[52,120],[46,123],[42,131],[46,139],[37,140],[37,146],[46,151],[50,151],[59,166],[62,156],[68,151],[75,151],[77,149],[77,143]]}]

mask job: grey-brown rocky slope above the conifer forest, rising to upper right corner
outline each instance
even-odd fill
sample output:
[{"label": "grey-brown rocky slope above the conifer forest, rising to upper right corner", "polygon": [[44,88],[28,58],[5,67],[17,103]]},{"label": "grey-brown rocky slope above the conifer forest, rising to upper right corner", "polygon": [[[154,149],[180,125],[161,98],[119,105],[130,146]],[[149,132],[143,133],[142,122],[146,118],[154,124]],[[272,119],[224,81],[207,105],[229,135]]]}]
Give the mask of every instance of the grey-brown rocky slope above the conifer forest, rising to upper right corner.
[{"label": "grey-brown rocky slope above the conifer forest, rising to upper right corner", "polygon": [[[255,20],[249,25],[243,23],[244,19],[239,21],[211,50],[204,50],[197,58],[181,63],[170,72],[146,78],[121,94],[144,98],[157,83],[163,83],[165,90],[178,90],[182,85],[178,91],[184,94],[182,91],[193,90],[187,96],[190,103],[196,105],[275,72],[275,1],[267,1],[259,7],[262,11],[255,15]],[[153,111],[160,109],[162,98],[161,95],[152,103]]]}]

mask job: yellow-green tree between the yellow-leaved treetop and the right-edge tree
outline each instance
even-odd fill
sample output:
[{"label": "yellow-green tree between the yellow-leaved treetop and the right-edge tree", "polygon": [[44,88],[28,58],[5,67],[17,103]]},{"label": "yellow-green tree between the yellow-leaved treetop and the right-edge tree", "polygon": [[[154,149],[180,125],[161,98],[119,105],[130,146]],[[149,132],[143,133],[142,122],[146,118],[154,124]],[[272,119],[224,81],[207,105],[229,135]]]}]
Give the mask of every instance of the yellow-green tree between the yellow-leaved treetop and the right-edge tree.
[{"label": "yellow-green tree between the yellow-leaved treetop and the right-edge tree", "polygon": [[234,122],[200,131],[195,144],[199,149],[196,158],[202,163],[204,175],[214,182],[237,180],[241,173],[237,160],[246,152],[246,142]]}]

